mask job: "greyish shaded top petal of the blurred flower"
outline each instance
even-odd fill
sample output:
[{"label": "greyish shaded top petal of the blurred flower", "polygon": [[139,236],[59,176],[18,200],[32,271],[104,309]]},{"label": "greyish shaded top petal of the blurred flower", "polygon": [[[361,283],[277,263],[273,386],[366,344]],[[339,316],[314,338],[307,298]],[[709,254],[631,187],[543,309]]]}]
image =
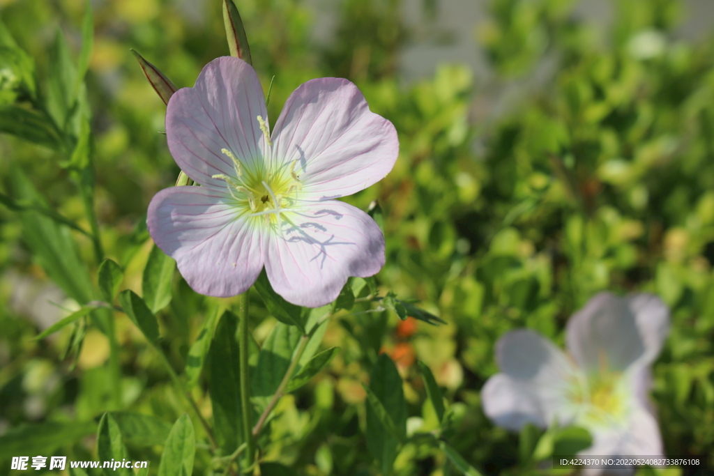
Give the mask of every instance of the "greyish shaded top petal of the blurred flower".
[{"label": "greyish shaded top petal of the blurred flower", "polygon": [[645,355],[628,300],[599,293],[568,320],[568,351],[588,373],[621,372]]}]

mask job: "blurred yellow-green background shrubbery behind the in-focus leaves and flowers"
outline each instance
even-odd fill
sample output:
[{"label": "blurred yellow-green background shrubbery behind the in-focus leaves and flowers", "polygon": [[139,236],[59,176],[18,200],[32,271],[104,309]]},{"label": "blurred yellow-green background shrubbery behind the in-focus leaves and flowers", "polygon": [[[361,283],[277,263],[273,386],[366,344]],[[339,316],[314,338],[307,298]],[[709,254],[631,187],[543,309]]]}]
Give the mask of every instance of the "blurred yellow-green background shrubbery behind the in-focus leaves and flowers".
[{"label": "blurred yellow-green background shrubbery behind the in-focus leaves and flowers", "polygon": [[[164,103],[129,48],[176,86],[191,86],[204,64],[228,54],[221,2],[91,3],[95,36],[86,91],[94,210],[104,253],[126,270],[122,287],[139,292],[151,250],[142,228],[146,207],[156,191],[174,184],[178,168],[161,133]],[[303,2],[236,1],[263,88],[275,76],[273,121],[303,81],[340,76],[396,126],[401,150],[393,172],[346,201],[366,209],[377,199],[383,208],[387,264],[378,282],[384,292],[421,300],[447,322],[400,321],[386,312],[332,318],[323,345],[339,345],[341,353],[310,385],[281,400],[266,459],[298,475],[378,474],[363,435],[360,383],[384,351],[404,379],[408,425],[421,431],[438,425],[418,359],[445,389],[449,440],[468,462],[484,475],[536,474],[531,456],[538,434],[494,427],[481,410],[479,390],[498,370],[493,344],[526,326],[562,345],[566,320],[596,292],[643,290],[658,293],[673,319],[653,367],[665,452],[709,455],[714,464],[714,36],[676,34],[688,18],[682,1],[612,1],[603,28],[574,16],[575,1],[493,0],[481,2],[486,16],[473,24],[470,40],[488,66],[487,80],[476,81],[484,76],[466,64],[473,59],[413,79],[400,76],[408,70],[403,51],[453,36],[438,26],[448,1],[411,2],[416,23],[405,21],[406,3],[335,3],[333,36],[319,42],[313,31],[325,28],[315,23],[325,15]],[[76,59],[84,8],[81,0],[0,0],[0,17],[34,59],[39,91],[48,97],[57,29]],[[411,61],[418,61],[414,51]],[[0,106],[24,100],[23,79],[8,58],[0,53]],[[501,107],[498,91],[513,85],[526,87]],[[3,134],[1,188],[16,197],[19,176],[26,176],[49,207],[89,230],[76,180],[62,166],[66,159]],[[110,397],[109,343],[100,330],[84,328],[81,348],[71,345],[71,328],[31,340],[76,302],[37,259],[39,237],[23,232],[27,213],[0,206],[0,435],[27,423],[91,421],[106,410],[174,422],[186,411],[183,402],[126,316],[116,313],[119,403]],[[71,233],[94,278],[91,240]],[[251,328],[261,343],[275,320],[254,298]],[[214,301],[176,274],[173,299],[159,320],[162,346],[177,369]],[[66,355],[68,345],[73,351]],[[201,380],[193,395],[210,417],[206,389]],[[46,455],[90,460],[96,459],[93,438],[43,444]],[[161,453],[157,445],[129,450],[135,460],[158,461]],[[393,474],[445,475],[444,461],[438,450],[409,443]],[[0,475],[9,474],[0,462]],[[211,474],[208,467],[210,457],[199,450],[194,474]],[[640,474],[710,475],[714,466]]]}]

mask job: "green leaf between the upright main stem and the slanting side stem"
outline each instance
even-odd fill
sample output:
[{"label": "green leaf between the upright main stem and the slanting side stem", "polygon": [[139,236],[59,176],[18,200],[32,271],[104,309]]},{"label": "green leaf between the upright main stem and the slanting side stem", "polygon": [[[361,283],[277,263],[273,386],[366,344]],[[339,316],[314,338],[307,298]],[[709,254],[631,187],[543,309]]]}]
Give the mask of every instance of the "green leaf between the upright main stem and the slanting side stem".
[{"label": "green leaf between the upright main stem and the slanting side stem", "polygon": [[[256,371],[251,373],[251,397],[272,397],[276,393],[300,338],[301,332],[294,325],[276,323],[263,342]],[[264,406],[267,400],[256,399],[256,403]]]}]

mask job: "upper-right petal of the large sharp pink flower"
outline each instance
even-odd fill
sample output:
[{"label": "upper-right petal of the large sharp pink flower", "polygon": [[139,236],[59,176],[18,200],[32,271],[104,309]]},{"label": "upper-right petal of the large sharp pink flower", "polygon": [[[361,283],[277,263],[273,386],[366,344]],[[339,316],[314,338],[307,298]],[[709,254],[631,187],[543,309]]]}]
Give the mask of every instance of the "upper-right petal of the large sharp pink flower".
[{"label": "upper-right petal of the large sharp pink flower", "polygon": [[273,157],[290,166],[303,196],[320,200],[348,196],[380,181],[399,152],[396,129],[371,112],[350,81],[312,79],[285,103],[273,133]]}]

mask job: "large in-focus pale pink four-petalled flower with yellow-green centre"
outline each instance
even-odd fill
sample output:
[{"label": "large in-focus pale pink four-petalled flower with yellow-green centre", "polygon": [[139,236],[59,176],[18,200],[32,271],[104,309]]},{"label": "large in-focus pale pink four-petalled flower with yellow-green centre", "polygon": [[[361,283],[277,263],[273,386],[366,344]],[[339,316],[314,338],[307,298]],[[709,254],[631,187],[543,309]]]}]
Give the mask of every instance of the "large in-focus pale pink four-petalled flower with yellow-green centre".
[{"label": "large in-focus pale pink four-petalled flower with yellow-green centre", "polygon": [[238,295],[265,266],[276,293],[318,307],[349,276],[384,265],[377,224],[335,199],[386,176],[399,143],[350,81],[303,83],[271,134],[256,72],[218,58],[196,86],[171,96],[166,136],[178,166],[201,186],[157,193],[147,223],[196,292]]}]

